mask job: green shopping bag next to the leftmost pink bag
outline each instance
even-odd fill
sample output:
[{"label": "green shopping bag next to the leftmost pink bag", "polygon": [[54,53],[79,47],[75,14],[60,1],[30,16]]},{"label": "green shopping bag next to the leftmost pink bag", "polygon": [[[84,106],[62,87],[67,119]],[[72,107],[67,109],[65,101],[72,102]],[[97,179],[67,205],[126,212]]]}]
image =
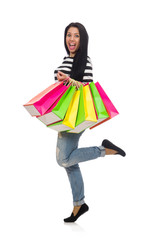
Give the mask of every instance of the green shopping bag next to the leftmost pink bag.
[{"label": "green shopping bag next to the leftmost pink bag", "polygon": [[[67,112],[67,109],[70,105],[70,102],[73,98],[75,92],[75,86],[69,86],[68,90],[63,94],[61,99],[58,101],[58,103],[55,103],[55,106],[52,107],[52,110],[50,112],[51,116],[51,124],[48,124],[47,126],[53,129],[53,125],[60,120],[63,120],[65,117],[65,114]],[[44,117],[46,115],[39,117],[39,120],[44,122]],[[45,123],[45,122],[44,122]],[[70,128],[69,128],[70,129]]]}]

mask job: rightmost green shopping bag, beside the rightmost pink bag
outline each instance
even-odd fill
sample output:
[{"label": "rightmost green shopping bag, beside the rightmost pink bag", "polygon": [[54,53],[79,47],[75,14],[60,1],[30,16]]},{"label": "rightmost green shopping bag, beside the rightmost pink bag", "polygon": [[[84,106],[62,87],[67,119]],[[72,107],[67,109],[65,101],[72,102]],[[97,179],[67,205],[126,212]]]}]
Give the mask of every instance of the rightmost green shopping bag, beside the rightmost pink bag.
[{"label": "rightmost green shopping bag, beside the rightmost pink bag", "polygon": [[89,84],[89,86],[91,89],[94,105],[96,108],[96,114],[97,114],[97,118],[98,118],[97,123],[95,123],[95,124],[98,124],[98,123],[102,122],[103,120],[109,118],[109,114],[104,106],[103,100],[102,100],[94,82],[91,82]]}]

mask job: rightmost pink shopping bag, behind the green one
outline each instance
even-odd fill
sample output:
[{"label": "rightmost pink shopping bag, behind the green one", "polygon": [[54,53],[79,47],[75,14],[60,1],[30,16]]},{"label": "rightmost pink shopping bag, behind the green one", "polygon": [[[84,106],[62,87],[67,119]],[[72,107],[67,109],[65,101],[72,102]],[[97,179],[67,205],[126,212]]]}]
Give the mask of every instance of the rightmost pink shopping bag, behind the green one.
[{"label": "rightmost pink shopping bag, behind the green one", "polygon": [[117,109],[115,108],[115,106],[113,105],[113,103],[111,102],[111,100],[109,99],[109,97],[107,96],[106,92],[104,91],[104,89],[101,87],[101,85],[99,84],[99,82],[95,83],[95,86],[101,96],[101,99],[104,103],[105,109],[107,111],[107,113],[109,114],[109,117],[104,119],[103,121],[100,121],[99,123],[93,125],[90,127],[90,129],[97,127],[98,125],[106,122],[107,120],[115,117],[116,115],[119,114],[119,112],[117,111]]}]

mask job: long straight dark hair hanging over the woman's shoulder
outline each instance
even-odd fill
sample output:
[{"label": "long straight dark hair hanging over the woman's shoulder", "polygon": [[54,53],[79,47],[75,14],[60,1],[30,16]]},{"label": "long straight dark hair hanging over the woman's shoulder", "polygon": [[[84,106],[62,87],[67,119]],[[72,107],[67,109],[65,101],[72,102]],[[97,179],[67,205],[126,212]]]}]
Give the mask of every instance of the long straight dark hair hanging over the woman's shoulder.
[{"label": "long straight dark hair hanging over the woman's shoulder", "polygon": [[66,48],[66,51],[68,54],[70,52],[66,45],[66,35],[67,35],[67,31],[70,27],[78,28],[79,34],[80,34],[80,46],[74,57],[70,77],[77,81],[82,81],[84,70],[86,68],[86,63],[87,63],[87,51],[88,51],[88,38],[89,37],[88,37],[88,33],[87,33],[85,27],[81,23],[78,23],[78,22],[70,23],[65,28],[65,33],[64,33],[64,44],[65,44],[65,48]]}]

